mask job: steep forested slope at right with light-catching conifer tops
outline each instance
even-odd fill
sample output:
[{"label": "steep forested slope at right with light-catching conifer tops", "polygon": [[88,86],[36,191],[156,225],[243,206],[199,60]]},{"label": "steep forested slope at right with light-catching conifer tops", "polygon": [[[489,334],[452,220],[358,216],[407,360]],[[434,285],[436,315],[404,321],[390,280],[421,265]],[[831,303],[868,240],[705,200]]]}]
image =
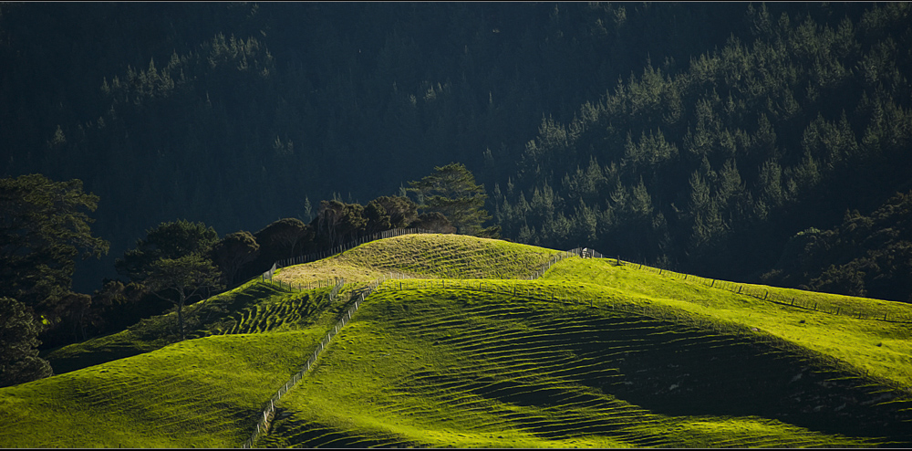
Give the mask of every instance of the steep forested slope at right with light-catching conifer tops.
[{"label": "steep forested slope at right with light-catching conifer tops", "polygon": [[752,37],[678,73],[649,64],[572,121],[545,118],[494,188],[504,235],[747,278],[789,236],[872,212],[912,186],[910,11],[827,25],[751,5]]}]

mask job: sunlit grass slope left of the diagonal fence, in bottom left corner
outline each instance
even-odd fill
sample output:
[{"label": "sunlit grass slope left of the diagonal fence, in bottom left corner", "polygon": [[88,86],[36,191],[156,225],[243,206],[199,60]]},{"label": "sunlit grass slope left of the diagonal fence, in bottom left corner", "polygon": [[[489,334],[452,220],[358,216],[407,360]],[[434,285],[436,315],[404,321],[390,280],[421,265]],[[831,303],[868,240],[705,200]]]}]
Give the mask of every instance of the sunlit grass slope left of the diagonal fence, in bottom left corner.
[{"label": "sunlit grass slope left of the diagonal fence, in bottom left corner", "polygon": [[212,336],[0,388],[0,444],[236,447],[323,330]]}]

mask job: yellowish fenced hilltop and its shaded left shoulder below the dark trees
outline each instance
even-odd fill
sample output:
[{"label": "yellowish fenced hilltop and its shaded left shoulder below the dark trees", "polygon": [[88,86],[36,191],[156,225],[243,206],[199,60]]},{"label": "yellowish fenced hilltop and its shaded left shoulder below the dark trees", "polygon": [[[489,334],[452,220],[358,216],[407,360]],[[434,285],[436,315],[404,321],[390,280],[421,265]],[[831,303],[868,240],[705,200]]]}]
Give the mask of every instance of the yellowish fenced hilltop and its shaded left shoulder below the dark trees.
[{"label": "yellowish fenced hilltop and its shaded left shoulder below the dark trees", "polygon": [[[345,277],[356,283],[368,282],[389,270],[430,278],[523,278],[557,253],[544,247],[472,236],[406,235],[372,241],[313,263],[285,267],[275,274],[275,278],[294,286],[335,277]],[[257,309],[265,310],[270,303],[298,299],[299,303],[309,304],[296,310],[304,315],[300,317],[304,324],[306,318],[319,313],[317,307],[326,307],[329,289],[301,293],[258,280],[254,278],[240,287],[187,306],[184,315],[188,330],[191,330],[187,336],[200,338],[239,331],[264,331],[250,329],[251,321],[258,315]],[[262,312],[259,318],[282,318],[281,322],[296,323],[282,315],[263,315]],[[176,313],[172,311],[142,320],[127,330],[48,351],[42,357],[60,374],[155,351],[178,340],[176,323]]]}]

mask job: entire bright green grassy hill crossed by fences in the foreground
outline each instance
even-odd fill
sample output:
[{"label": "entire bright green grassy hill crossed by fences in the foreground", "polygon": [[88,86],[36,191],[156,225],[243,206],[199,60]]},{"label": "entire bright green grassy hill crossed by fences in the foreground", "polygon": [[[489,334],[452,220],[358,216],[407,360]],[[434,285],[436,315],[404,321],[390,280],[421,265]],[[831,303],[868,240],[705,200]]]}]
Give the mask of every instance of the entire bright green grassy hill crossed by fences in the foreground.
[{"label": "entire bright green grassy hill crossed by fences in the foreground", "polygon": [[280,269],[285,285],[188,308],[193,340],[169,344],[170,314],[50,353],[72,371],[0,389],[0,443],[240,446],[352,295],[392,275],[256,446],[912,446],[912,306],[613,259],[526,279],[558,254],[399,236]]}]

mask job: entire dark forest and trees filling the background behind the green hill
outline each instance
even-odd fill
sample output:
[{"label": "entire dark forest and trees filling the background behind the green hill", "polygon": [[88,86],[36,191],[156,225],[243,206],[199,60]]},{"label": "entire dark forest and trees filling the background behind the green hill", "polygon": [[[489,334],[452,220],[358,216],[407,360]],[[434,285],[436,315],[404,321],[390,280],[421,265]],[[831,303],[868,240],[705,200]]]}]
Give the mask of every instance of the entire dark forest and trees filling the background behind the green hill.
[{"label": "entire dark forest and trees filling the background behind the green hill", "polygon": [[907,3],[3,4],[0,68],[46,347],[404,226],[912,301]]}]

